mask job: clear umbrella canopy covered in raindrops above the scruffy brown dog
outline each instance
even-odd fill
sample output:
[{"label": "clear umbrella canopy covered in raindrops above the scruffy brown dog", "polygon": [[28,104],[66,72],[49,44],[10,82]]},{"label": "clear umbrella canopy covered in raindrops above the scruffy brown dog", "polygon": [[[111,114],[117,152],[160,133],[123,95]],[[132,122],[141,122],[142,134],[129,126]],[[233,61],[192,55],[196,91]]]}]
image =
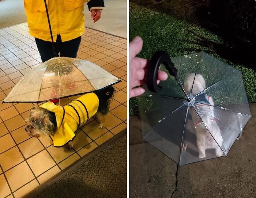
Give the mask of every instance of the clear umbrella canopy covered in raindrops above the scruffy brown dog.
[{"label": "clear umbrella canopy covered in raindrops above the scruffy brown dog", "polygon": [[56,57],[29,71],[3,102],[45,102],[101,90],[120,79],[93,62]]}]

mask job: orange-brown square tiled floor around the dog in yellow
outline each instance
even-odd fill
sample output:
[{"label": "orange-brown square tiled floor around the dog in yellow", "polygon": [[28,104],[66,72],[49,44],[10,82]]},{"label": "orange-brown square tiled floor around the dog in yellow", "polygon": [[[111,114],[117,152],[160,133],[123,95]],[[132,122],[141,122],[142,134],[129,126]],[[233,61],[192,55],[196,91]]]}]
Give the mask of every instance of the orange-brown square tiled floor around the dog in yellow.
[{"label": "orange-brown square tiled floor around the dog in yellow", "polygon": [[[49,137],[31,138],[25,130],[28,110],[36,104],[3,103],[12,87],[41,62],[27,23],[0,29],[0,197],[19,198],[91,152],[126,128],[127,40],[86,28],[78,58],[86,59],[119,77],[116,95],[106,119],[98,129],[91,119],[78,132],[71,151],[55,148]],[[61,99],[61,105],[77,98]]]}]

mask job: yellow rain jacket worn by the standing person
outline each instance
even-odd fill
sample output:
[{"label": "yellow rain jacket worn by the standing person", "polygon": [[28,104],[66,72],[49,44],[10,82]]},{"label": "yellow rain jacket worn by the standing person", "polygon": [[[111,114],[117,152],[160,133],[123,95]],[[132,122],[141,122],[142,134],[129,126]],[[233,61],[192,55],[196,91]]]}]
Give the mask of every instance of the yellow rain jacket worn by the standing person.
[{"label": "yellow rain jacket worn by the standing person", "polygon": [[[89,10],[102,9],[103,0],[87,0]],[[53,41],[70,41],[84,34],[84,0],[46,0]],[[24,0],[30,35],[51,41],[44,0]]]}]

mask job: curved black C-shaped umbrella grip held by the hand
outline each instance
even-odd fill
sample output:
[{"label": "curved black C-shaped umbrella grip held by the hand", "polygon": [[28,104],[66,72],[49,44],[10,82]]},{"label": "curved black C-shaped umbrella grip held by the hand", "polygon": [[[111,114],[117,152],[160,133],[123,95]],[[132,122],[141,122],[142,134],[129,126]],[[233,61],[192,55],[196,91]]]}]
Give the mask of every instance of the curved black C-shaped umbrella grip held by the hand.
[{"label": "curved black C-shaped umbrella grip held by the hand", "polygon": [[155,93],[160,93],[162,91],[162,87],[157,85],[158,70],[161,64],[165,66],[170,75],[177,77],[178,73],[167,52],[155,52],[148,63],[147,69],[147,87],[148,90]]}]

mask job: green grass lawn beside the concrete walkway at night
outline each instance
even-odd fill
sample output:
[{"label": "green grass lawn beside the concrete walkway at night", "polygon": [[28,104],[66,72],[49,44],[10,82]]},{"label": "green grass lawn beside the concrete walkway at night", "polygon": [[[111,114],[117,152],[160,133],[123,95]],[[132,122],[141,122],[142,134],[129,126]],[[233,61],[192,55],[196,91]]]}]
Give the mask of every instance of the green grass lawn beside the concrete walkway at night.
[{"label": "green grass lawn beside the concrete walkway at night", "polygon": [[[136,35],[142,37],[144,45],[138,57],[150,59],[157,50],[164,50],[171,57],[200,52],[210,53],[219,60],[233,66],[242,72],[246,94],[249,102],[256,102],[256,72],[243,65],[233,64],[218,53],[218,46],[225,46],[225,42],[217,35],[202,27],[192,25],[187,20],[177,19],[173,16],[152,11],[139,5],[130,3],[129,7],[129,38]],[[178,69],[181,78],[182,69]],[[183,71],[184,72],[184,71]],[[223,75],[225,72],[223,72]],[[207,78],[210,79],[211,77]],[[181,79],[182,80],[182,79]],[[231,87],[227,93],[231,93]],[[218,93],[216,92],[216,95]],[[216,96],[215,96],[216,97]],[[227,96],[215,98],[218,103],[228,100]],[[138,114],[138,99],[132,98],[129,103],[129,114]]]}]

